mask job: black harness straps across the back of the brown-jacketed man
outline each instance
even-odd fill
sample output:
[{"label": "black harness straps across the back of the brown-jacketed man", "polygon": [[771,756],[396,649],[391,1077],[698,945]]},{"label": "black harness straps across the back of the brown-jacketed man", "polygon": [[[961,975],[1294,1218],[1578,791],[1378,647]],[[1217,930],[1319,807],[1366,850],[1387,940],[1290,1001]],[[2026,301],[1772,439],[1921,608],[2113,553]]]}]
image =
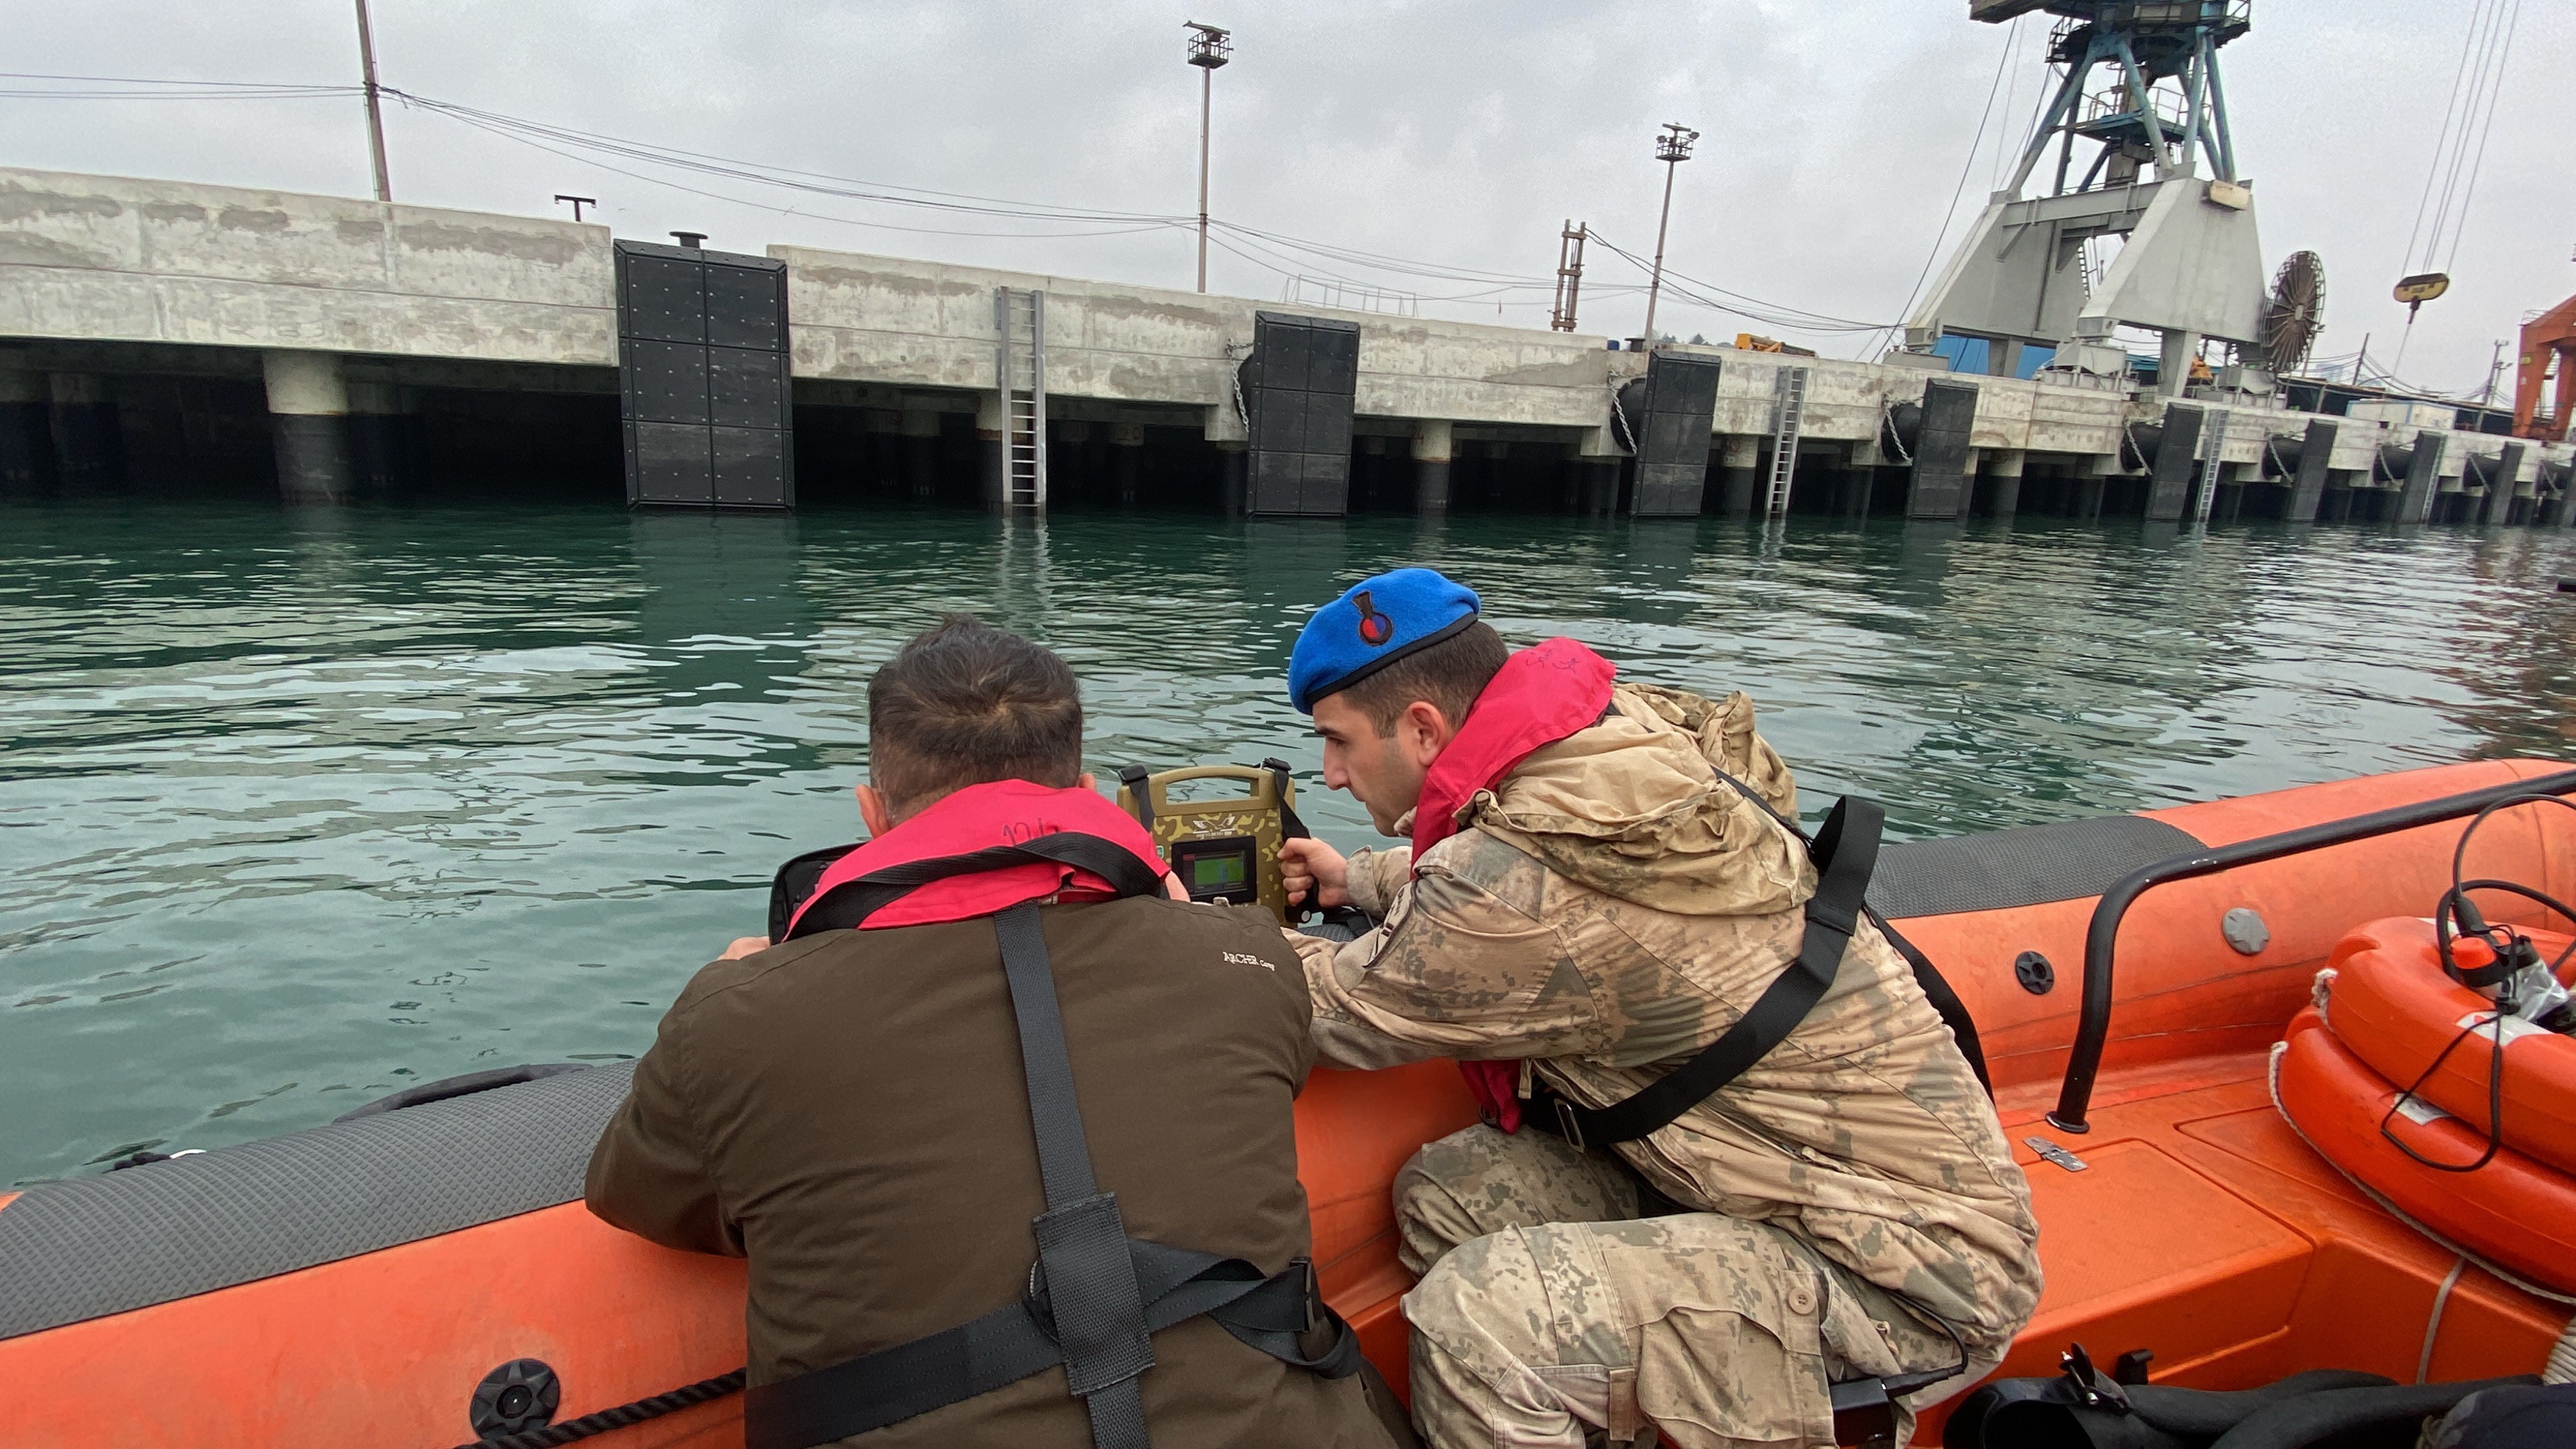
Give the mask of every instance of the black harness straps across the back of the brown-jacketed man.
[{"label": "black harness straps across the back of the brown-jacketed man", "polygon": [[[855,926],[927,882],[1028,861],[1079,866],[1113,882],[1118,895],[1162,890],[1154,871],[1128,851],[1095,835],[1059,833],[871,871],[817,900],[793,933]],[[994,915],[994,936],[1020,1034],[1028,1116],[1046,1189],[1046,1212],[1033,1220],[1038,1263],[1028,1274],[1028,1292],[927,1338],[750,1390],[742,1405],[747,1449],[832,1444],[1056,1364],[1064,1366],[1066,1390],[1090,1413],[1097,1449],[1149,1449],[1141,1374],[1154,1366],[1151,1336],[1200,1315],[1236,1341],[1327,1379],[1360,1369],[1360,1338],[1321,1302],[1306,1258],[1265,1276],[1242,1258],[1126,1235],[1118,1196],[1100,1191],[1092,1176],[1038,902]],[[1332,1348],[1306,1356],[1301,1336],[1327,1323],[1334,1330]]]}]

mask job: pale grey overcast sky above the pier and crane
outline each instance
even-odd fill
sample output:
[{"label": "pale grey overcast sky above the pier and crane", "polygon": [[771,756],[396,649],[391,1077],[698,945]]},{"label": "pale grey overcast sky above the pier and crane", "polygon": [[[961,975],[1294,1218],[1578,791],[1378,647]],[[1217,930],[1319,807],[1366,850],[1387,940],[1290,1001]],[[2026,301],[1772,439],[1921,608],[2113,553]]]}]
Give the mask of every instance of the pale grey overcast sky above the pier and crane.
[{"label": "pale grey overcast sky above the pier and crane", "polygon": [[[2264,266],[2303,248],[2326,260],[2318,356],[2370,335],[2372,361],[2396,361],[2406,312],[2388,286],[2411,271],[2409,229],[2470,13],[2473,0],[2257,0],[2254,34],[2226,49]],[[1965,227],[1999,152],[2027,134],[2043,80],[2032,18],[1971,157],[2009,36],[1971,23],[1965,0],[1208,0],[1188,13],[1105,0],[376,0],[374,18],[381,80],[428,98],[773,168],[1154,217],[1195,211],[1198,72],[1182,62],[1182,21],[1213,21],[1236,31],[1234,64],[1216,75],[1221,219],[1443,271],[1546,278],[1569,217],[1638,255],[1654,248],[1651,134],[1685,121],[1703,139],[1680,170],[1669,266],[1870,322],[1904,307],[1963,170],[1950,237]],[[358,72],[340,0],[0,0],[0,34],[15,72],[325,85]],[[2555,70],[2571,46],[2576,5],[2519,13],[2455,284],[2406,343],[2409,382],[2481,387],[2491,343],[2576,291]],[[958,217],[659,170],[670,183],[654,183],[402,106],[386,116],[386,144],[399,201],[544,214],[572,191],[598,196],[603,219],[631,237],[690,227],[752,253],[801,242],[1193,284],[1185,227]],[[0,98],[0,162],[348,196],[371,186],[361,103],[337,95]],[[1311,255],[1262,263],[1216,250],[1211,289],[1278,299],[1291,286],[1283,271],[1340,271],[1422,297],[1489,286]],[[1636,330],[1643,297],[1610,291],[1636,281],[1595,253],[1587,284],[1600,291],[1584,330]],[[1499,302],[1422,309],[1546,325],[1546,291]],[[1659,322],[1710,340],[1741,327],[1790,335],[1674,302]],[[1808,340],[1839,356],[1860,348],[1842,335]],[[2509,394],[2512,382],[2501,387]]]}]

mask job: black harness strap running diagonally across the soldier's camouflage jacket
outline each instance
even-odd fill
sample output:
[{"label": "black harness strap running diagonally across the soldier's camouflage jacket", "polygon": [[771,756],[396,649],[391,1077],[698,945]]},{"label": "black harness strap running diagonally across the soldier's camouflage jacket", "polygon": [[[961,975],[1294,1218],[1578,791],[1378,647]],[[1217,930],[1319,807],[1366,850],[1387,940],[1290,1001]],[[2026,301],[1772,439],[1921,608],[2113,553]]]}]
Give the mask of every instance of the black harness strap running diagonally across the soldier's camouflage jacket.
[{"label": "black harness strap running diagonally across the soldier's camouflage jacket", "polygon": [[1806,902],[1806,936],[1798,941],[1798,959],[1772,977],[1752,1011],[1736,1018],[1723,1036],[1636,1096],[1610,1106],[1574,1106],[1564,1096],[1546,1093],[1546,1104],[1533,1101],[1543,1111],[1533,1111],[1530,1122],[1558,1132],[1577,1147],[1633,1142],[1708,1101],[1713,1091],[1744,1075],[1785,1042],[1824,1000],[1842,969],[1842,951],[1852,944],[1852,931],[1860,928],[1862,892],[1870,887],[1870,866],[1878,864],[1883,825],[1886,812],[1855,797],[1844,797],[1824,817],[1824,830],[1811,846],[1816,895]]}]

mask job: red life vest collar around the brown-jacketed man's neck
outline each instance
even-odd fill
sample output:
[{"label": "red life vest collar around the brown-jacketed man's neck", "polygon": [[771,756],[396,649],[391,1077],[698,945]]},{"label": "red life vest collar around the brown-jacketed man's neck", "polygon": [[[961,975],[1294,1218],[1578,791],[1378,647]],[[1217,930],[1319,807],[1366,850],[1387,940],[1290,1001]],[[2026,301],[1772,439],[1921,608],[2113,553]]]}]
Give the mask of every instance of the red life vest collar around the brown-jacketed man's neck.
[{"label": "red life vest collar around the brown-jacketed man's neck", "polygon": [[[894,830],[886,830],[884,835],[832,861],[832,869],[814,882],[814,892],[796,908],[796,918],[804,918],[806,908],[829,895],[832,887],[853,882],[868,871],[912,861],[966,856],[989,846],[1020,846],[1059,830],[1100,835],[1103,841],[1131,851],[1139,861],[1151,866],[1154,874],[1164,874],[1170,869],[1162,861],[1162,851],[1154,848],[1154,838],[1144,833],[1144,825],[1136,825],[1133,815],[1118,810],[1097,792],[1082,786],[1054,789],[1025,779],[999,779],[971,784],[948,794],[930,810],[922,810],[912,820],[904,820]],[[1110,895],[1115,895],[1110,882],[1095,877],[1092,871],[1054,861],[1033,861],[922,884],[902,900],[878,908],[868,915],[860,931],[974,920],[979,915],[999,915],[1023,900],[1105,900]],[[788,928],[793,931],[793,923]]]}]

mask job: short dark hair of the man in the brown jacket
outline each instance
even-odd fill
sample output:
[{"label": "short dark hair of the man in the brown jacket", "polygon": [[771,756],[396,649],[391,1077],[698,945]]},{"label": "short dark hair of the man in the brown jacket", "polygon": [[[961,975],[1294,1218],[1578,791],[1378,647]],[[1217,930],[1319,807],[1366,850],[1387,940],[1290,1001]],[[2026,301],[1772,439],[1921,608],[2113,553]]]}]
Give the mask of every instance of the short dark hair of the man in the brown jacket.
[{"label": "short dark hair of the man in the brown jacket", "polygon": [[997,779],[1082,779],[1082,686],[1051,650],[951,614],[868,681],[868,784],[909,815]]}]

